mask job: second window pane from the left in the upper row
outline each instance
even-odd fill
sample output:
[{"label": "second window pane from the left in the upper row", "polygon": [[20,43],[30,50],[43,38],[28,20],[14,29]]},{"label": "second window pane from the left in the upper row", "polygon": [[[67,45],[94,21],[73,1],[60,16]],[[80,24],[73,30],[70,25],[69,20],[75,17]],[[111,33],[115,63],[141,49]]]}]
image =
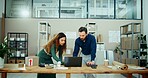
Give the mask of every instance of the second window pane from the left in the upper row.
[{"label": "second window pane from the left in the upper row", "polygon": [[59,18],[59,0],[33,0],[33,17]]}]

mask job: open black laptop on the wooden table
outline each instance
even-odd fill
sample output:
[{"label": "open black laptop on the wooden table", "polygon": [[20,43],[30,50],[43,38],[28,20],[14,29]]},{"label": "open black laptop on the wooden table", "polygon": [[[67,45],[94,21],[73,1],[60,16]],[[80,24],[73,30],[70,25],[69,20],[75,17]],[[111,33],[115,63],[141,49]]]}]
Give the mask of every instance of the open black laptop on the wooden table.
[{"label": "open black laptop on the wooden table", "polygon": [[65,67],[82,67],[82,57],[64,57]]}]

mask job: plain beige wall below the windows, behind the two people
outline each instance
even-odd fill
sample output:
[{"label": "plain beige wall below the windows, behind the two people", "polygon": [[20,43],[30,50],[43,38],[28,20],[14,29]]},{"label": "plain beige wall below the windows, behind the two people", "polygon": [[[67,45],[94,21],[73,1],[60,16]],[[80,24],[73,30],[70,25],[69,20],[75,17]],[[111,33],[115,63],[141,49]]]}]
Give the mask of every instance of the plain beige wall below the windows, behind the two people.
[{"label": "plain beige wall below the windows, behind the two people", "polygon": [[[29,53],[37,53],[37,31],[38,22],[47,21],[51,25],[51,34],[58,32],[78,32],[80,26],[84,26],[89,22],[96,22],[98,34],[103,36],[105,49],[114,49],[116,43],[109,43],[109,31],[119,31],[120,26],[131,22],[143,22],[142,20],[101,20],[101,19],[21,19],[21,18],[6,18],[6,33],[7,32],[27,32],[29,33]],[[78,34],[77,34],[78,37]],[[67,47],[74,47],[75,39],[67,40]]]}]

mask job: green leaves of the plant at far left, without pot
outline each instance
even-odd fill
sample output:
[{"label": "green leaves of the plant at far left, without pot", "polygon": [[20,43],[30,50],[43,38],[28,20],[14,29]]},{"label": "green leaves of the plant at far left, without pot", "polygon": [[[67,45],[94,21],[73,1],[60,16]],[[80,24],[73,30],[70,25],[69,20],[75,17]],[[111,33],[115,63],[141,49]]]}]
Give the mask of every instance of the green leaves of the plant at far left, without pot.
[{"label": "green leaves of the plant at far left, without pot", "polygon": [[11,55],[10,48],[7,43],[7,36],[4,38],[4,42],[0,44],[0,57],[4,58],[6,54]]}]

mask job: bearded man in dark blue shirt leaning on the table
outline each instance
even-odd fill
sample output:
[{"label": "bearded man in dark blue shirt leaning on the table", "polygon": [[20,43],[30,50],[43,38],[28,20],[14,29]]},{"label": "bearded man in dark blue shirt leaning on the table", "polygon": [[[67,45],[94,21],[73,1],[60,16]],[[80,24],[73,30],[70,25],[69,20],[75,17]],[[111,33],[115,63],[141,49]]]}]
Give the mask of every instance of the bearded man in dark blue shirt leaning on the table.
[{"label": "bearded man in dark blue shirt leaning on the table", "polygon": [[[87,28],[79,28],[79,37],[75,40],[73,56],[77,57],[81,48],[82,64],[93,65],[96,57],[96,39],[93,35],[87,34]],[[94,78],[92,74],[84,74],[85,78]]]}]

